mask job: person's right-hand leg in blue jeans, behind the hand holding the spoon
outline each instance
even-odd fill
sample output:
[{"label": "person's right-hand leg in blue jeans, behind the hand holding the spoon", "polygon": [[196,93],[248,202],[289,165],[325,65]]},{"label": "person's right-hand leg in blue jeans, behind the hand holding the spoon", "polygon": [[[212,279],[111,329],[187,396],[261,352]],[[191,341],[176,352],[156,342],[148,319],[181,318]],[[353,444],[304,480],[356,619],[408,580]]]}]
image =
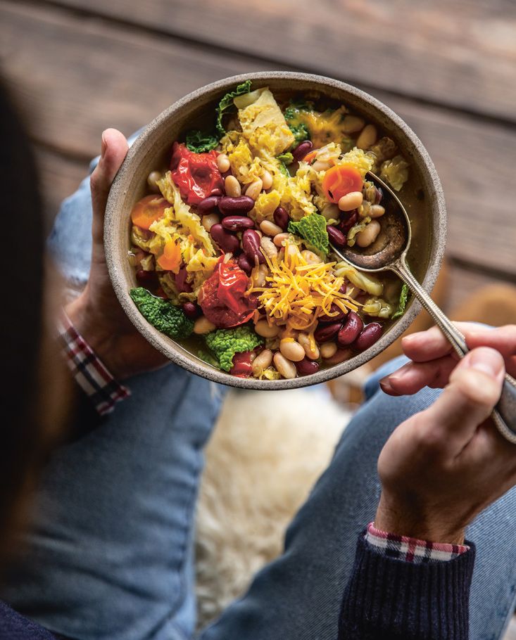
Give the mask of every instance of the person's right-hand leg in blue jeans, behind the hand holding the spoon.
[{"label": "person's right-hand leg in blue jeans, behind the hand holding the spoon", "polygon": [[[334,640],[355,544],[379,498],[377,459],[392,430],[439,391],[389,397],[378,380],[403,364],[386,364],[367,383],[368,400],[348,425],[332,463],[287,530],[285,549],[256,575],[201,640]],[[477,544],[470,640],[501,638],[516,590],[516,489],[484,511],[467,532]]]}]

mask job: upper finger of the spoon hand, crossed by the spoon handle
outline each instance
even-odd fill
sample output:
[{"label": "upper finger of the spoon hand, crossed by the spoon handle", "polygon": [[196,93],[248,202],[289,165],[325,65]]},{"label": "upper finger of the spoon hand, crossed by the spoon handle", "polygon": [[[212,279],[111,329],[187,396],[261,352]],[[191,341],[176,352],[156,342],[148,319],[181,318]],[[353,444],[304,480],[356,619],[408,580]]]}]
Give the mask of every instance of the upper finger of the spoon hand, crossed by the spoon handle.
[{"label": "upper finger of the spoon hand, crossed by the spoon handle", "polygon": [[[516,326],[499,328],[483,327],[468,322],[458,322],[457,328],[465,335],[470,348],[493,347],[506,357],[516,354]],[[426,362],[453,352],[453,347],[441,330],[434,326],[405,336],[402,340],[403,352],[415,362]],[[455,354],[453,357],[456,358]]]}]

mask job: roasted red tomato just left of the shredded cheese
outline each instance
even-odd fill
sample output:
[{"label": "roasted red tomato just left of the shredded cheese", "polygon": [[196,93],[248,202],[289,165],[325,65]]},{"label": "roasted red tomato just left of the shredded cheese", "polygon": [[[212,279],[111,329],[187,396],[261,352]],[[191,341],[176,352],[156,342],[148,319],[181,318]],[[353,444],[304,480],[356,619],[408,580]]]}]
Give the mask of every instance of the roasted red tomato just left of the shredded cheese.
[{"label": "roasted red tomato just left of the shredded cheese", "polygon": [[257,306],[256,300],[244,295],[247,287],[248,277],[236,262],[219,262],[213,276],[201,287],[197,301],[215,326],[237,326],[251,319]]}]

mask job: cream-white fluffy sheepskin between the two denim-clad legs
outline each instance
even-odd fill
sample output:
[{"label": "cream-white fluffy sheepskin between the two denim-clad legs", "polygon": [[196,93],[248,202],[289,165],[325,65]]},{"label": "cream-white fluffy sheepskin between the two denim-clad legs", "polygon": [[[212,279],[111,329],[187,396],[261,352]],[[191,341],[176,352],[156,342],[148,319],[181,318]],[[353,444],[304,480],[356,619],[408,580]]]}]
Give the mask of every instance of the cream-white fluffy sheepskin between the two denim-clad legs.
[{"label": "cream-white fluffy sheepskin between the two denim-clad legs", "polygon": [[281,551],[285,529],[351,417],[325,385],[231,390],[206,451],[197,514],[199,627],[244,594]]}]

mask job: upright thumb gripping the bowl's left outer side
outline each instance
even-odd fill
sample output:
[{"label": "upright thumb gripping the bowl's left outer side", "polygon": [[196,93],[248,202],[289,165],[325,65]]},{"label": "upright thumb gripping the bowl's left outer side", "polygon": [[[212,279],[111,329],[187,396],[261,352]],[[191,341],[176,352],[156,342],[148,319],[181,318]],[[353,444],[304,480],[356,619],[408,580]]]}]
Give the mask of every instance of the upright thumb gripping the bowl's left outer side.
[{"label": "upright thumb gripping the bowl's left outer side", "polygon": [[93,207],[93,241],[102,243],[104,212],[109,190],[115,175],[127,155],[127,140],[117,129],[106,129],[102,134],[101,158],[90,178]]}]

